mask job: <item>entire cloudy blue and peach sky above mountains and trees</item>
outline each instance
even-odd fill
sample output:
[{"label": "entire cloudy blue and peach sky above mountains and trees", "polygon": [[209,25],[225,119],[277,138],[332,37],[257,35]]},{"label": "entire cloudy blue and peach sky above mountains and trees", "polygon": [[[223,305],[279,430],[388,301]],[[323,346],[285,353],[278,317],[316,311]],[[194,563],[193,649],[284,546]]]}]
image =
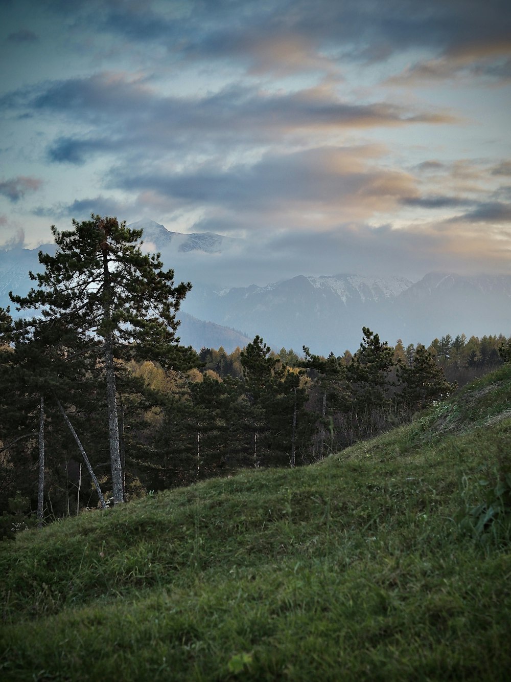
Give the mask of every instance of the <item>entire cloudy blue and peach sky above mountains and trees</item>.
[{"label": "entire cloudy blue and peach sky above mountains and trees", "polygon": [[511,274],[510,123],[508,0],[0,0],[3,248],[94,213],[236,237],[232,285]]}]

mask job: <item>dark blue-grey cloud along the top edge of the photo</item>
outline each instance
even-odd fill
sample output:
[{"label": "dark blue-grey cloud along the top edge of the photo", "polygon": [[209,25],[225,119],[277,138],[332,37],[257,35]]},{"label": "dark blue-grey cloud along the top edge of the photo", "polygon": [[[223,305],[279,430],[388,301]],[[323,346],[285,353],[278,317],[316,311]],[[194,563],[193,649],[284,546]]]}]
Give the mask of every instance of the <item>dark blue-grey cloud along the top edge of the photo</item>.
[{"label": "dark blue-grey cloud along the top edge of the photo", "polygon": [[260,61],[268,37],[278,41],[294,35],[316,54],[332,45],[342,46],[339,57],[344,61],[371,61],[375,55],[382,59],[418,46],[448,54],[481,43],[495,44],[508,38],[511,25],[506,0],[240,0],[234,5],[224,0],[75,0],[46,6],[97,31],[165,46],[170,55],[203,60],[242,57],[253,63]]}]

